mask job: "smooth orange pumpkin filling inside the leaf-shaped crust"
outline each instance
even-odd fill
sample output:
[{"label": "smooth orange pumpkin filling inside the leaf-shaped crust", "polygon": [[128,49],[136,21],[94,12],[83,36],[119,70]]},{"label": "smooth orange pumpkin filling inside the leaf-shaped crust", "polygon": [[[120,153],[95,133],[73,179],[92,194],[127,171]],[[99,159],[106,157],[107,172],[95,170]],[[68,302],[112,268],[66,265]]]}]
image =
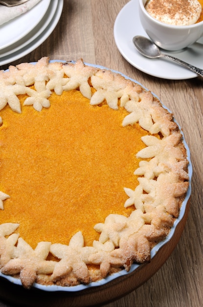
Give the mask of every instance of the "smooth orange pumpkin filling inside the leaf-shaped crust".
[{"label": "smooth orange pumpkin filling inside the leaf-shaped crust", "polygon": [[146,147],[138,124],[122,127],[128,112],[107,104],[93,106],[80,91],[52,94],[40,113],[23,106],[1,110],[0,190],[10,196],[0,224],[19,223],[20,236],[34,249],[38,242],[68,244],[82,231],[85,245],[99,234],[97,223],[113,214],[129,216],[124,187],[135,189],[134,175]]}]

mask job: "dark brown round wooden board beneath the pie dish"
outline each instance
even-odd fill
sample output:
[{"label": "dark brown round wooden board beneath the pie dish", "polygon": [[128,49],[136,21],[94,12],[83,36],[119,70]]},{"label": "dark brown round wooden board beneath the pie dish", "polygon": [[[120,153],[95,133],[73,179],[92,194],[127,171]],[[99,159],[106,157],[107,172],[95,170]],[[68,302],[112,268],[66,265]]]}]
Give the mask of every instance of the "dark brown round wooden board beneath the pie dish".
[{"label": "dark brown round wooden board beneath the pie dish", "polygon": [[173,252],[187,220],[189,203],[188,201],[185,214],[171,240],[158,251],[150,263],[140,265],[135,272],[121,276],[105,285],[71,293],[46,292],[36,288],[26,290],[21,285],[0,278],[0,299],[21,307],[95,307],[132,292],[149,280]]}]

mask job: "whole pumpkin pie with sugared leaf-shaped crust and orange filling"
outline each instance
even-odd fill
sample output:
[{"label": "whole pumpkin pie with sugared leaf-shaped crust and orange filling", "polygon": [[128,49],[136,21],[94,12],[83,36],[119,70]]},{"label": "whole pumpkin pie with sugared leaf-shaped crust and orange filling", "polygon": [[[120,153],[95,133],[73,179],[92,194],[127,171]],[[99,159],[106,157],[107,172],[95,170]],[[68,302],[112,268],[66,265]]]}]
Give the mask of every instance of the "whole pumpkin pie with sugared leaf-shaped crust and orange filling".
[{"label": "whole pumpkin pie with sugared leaf-shaped crust and orange filling", "polygon": [[25,288],[149,262],[188,189],[173,115],[82,59],[0,71],[0,147],[0,268]]}]

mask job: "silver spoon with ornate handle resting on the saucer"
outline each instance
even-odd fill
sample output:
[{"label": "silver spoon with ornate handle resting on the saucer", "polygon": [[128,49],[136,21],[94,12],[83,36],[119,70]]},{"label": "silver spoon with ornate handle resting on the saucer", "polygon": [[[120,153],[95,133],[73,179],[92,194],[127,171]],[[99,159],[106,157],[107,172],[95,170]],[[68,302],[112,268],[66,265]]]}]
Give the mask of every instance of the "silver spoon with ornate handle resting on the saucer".
[{"label": "silver spoon with ornate handle resting on the saucer", "polygon": [[157,58],[157,57],[165,57],[168,58],[170,60],[173,60],[179,64],[181,64],[182,66],[190,69],[191,71],[193,71],[194,73],[200,75],[201,77],[203,77],[203,70],[195,67],[191,64],[188,64],[186,62],[183,62],[180,59],[177,59],[174,56],[171,56],[169,54],[164,54],[161,53],[158,46],[155,45],[150,39],[148,39],[147,37],[144,36],[140,36],[137,35],[133,38],[133,43],[135,45],[135,48],[137,49],[137,51],[139,51],[142,55],[149,57],[151,59],[153,58]]}]

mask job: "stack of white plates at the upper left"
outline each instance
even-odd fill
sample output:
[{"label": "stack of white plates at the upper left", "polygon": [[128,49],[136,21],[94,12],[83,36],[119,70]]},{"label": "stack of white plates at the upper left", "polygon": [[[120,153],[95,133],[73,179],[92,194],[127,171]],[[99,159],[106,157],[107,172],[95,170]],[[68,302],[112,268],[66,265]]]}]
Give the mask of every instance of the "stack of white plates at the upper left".
[{"label": "stack of white plates at the upper left", "polygon": [[40,46],[56,27],[64,0],[41,0],[0,26],[0,65],[15,61]]}]

